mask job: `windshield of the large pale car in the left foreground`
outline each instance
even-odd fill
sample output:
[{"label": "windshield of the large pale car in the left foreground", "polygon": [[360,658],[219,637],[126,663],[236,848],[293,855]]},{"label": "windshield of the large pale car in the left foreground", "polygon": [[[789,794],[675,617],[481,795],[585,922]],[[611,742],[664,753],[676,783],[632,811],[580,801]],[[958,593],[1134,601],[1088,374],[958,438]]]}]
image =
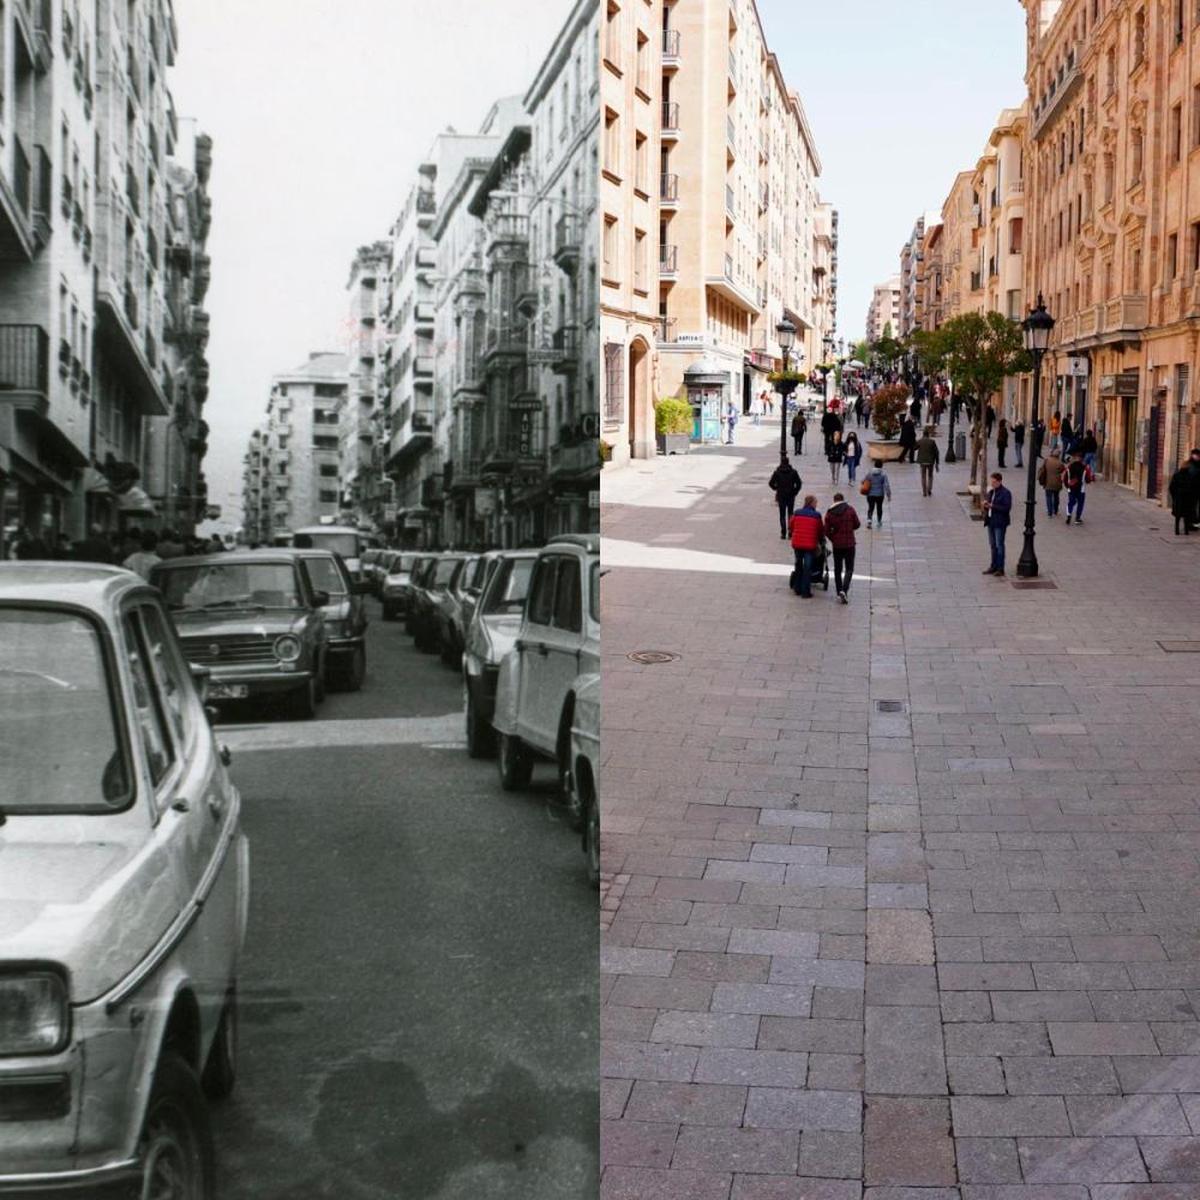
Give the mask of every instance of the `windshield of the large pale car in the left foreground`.
[{"label": "windshield of the large pale car in the left foreground", "polygon": [[5,812],[104,812],[130,799],[97,628],[78,613],[0,607]]}]

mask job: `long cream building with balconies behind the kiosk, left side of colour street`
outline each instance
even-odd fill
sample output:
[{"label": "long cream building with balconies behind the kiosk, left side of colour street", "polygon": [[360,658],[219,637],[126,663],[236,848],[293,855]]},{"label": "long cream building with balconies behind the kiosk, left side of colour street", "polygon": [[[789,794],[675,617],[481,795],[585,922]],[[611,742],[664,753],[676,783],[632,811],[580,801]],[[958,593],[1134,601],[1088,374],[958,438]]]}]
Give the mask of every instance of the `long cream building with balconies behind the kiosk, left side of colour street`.
[{"label": "long cream building with balconies behind the kiosk, left side of colour street", "polygon": [[[611,4],[606,19],[619,19]],[[746,409],[769,386],[785,316],[798,330],[793,364],[823,354],[812,287],[821,162],[754,0],[674,4],[664,23],[678,35],[664,42],[677,50],[664,102],[678,103],[668,112],[679,125],[661,133],[660,244],[678,257],[673,275],[660,270],[658,390],[682,395],[702,367],[696,436],[709,438],[725,403]]]}]

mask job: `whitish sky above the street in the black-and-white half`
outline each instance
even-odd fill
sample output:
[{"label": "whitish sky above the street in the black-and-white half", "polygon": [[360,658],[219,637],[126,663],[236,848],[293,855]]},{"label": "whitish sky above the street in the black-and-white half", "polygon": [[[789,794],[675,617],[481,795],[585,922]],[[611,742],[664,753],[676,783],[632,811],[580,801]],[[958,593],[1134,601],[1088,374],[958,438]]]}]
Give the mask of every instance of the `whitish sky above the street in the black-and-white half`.
[{"label": "whitish sky above the street in the black-and-white half", "polygon": [[176,0],[168,85],[212,136],[211,427],[223,520],[272,374],[343,349],[358,246],[386,235],[446,126],[523,94],[570,0]]}]

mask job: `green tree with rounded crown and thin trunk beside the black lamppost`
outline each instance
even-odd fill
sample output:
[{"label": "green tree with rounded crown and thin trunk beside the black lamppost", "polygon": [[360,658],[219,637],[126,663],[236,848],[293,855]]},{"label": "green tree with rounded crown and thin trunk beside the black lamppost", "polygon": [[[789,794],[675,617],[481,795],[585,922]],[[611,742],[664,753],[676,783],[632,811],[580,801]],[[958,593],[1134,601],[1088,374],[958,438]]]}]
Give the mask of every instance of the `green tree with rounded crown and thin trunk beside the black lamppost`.
[{"label": "green tree with rounded crown and thin trunk beside the black lamppost", "polygon": [[[984,437],[988,402],[1003,388],[1007,376],[1031,370],[1021,326],[1003,313],[965,312],[952,317],[932,337],[931,353],[949,374],[955,394],[968,401],[971,482],[982,485],[988,472]],[[979,503],[978,494],[974,503]]]}]

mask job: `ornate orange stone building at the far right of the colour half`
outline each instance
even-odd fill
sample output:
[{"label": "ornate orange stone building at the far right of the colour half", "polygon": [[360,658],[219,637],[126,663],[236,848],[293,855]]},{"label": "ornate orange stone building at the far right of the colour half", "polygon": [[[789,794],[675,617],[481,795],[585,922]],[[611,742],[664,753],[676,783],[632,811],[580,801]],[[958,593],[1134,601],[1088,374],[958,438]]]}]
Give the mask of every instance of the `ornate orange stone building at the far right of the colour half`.
[{"label": "ornate orange stone building at the far right of the colour half", "polygon": [[1056,318],[1049,403],[1116,482],[1163,499],[1200,438],[1200,10],[1025,0],[1025,293]]}]

